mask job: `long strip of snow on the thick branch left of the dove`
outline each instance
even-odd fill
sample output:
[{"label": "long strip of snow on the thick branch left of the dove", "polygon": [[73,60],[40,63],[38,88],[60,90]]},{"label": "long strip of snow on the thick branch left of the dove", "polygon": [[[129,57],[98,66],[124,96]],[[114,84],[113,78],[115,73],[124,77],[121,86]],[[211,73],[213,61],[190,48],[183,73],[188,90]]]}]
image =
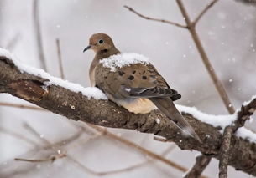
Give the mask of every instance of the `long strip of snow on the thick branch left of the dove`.
[{"label": "long strip of snow on the thick branch left of the dove", "polygon": [[8,52],[8,50],[0,48],[0,56],[5,56],[13,61],[13,63],[18,67],[20,72],[26,72],[28,74],[33,74],[35,76],[42,77],[44,79],[49,79],[49,81],[45,82],[46,85],[55,84],[60,87],[63,87],[65,89],[70,89],[73,92],[81,92],[81,94],[85,95],[88,99],[94,98],[94,99],[107,99],[107,96],[102,92],[102,90],[97,89],[96,87],[82,87],[80,84],[73,84],[71,82],[68,82],[66,80],[56,78],[51,76],[50,74],[44,72],[43,69],[37,69],[34,67],[30,67],[28,65],[22,64],[18,61],[18,59],[11,53]]}]

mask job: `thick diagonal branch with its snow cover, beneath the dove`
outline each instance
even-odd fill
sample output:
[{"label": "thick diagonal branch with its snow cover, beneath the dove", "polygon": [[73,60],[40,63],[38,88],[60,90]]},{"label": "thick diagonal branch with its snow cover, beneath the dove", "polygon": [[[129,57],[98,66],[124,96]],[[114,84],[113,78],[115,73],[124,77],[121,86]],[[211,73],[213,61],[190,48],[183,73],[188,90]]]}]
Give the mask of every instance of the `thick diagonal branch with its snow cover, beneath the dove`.
[{"label": "thick diagonal branch with its snow cover, beneath the dove", "polygon": [[[154,110],[149,114],[133,114],[107,100],[97,88],[83,88],[50,76],[41,69],[18,62],[12,54],[0,49],[0,92],[29,101],[39,107],[61,114],[72,120],[112,128],[138,130],[174,141],[182,150],[198,150],[203,155],[219,159],[222,130],[232,125],[239,114],[249,117],[255,110],[256,99],[232,115],[203,114],[196,108],[178,106],[189,121],[202,144],[185,137],[165,114]],[[157,121],[158,120],[158,121]],[[244,127],[231,140],[229,165],[248,174],[256,175],[256,135]],[[239,154],[238,154],[239,153]]]}]

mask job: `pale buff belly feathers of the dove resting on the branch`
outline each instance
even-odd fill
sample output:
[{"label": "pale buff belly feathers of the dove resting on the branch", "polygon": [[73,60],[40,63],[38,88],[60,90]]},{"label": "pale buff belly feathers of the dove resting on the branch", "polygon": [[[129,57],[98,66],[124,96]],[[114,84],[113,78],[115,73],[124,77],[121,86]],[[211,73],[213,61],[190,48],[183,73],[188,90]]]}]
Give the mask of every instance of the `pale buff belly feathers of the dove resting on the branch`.
[{"label": "pale buff belly feathers of the dove resting on the branch", "polygon": [[129,112],[135,114],[146,114],[150,111],[157,109],[152,101],[149,99],[118,99],[115,100],[118,105],[123,106],[123,108],[128,109]]}]

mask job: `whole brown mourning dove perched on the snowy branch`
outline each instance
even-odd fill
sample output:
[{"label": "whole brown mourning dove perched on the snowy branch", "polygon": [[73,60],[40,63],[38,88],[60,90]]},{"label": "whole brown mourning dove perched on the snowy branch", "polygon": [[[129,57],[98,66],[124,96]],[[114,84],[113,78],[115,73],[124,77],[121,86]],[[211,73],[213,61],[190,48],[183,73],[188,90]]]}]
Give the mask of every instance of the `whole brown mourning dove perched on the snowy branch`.
[{"label": "whole brown mourning dove perched on the snowy branch", "polygon": [[181,95],[170,89],[152,64],[133,60],[141,58],[139,55],[131,55],[132,62],[123,62],[125,56],[104,33],[93,34],[84,52],[88,49],[96,53],[89,71],[91,86],[102,89],[108,99],[135,114],[146,114],[157,107],[186,134],[201,142],[173,103]]}]

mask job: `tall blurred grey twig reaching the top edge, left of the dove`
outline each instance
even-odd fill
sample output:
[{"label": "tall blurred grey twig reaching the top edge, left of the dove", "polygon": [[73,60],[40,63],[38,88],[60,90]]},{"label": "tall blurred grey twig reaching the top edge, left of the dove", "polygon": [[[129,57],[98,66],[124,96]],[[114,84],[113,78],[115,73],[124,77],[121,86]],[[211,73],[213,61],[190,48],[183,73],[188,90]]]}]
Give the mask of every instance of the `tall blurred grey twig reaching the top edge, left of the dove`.
[{"label": "tall blurred grey twig reaching the top edge, left of the dove", "polygon": [[44,56],[43,41],[42,41],[42,33],[41,33],[41,27],[40,27],[39,0],[34,0],[33,2],[33,17],[34,17],[35,38],[36,38],[37,49],[39,53],[40,65],[42,69],[47,71],[46,60]]}]

